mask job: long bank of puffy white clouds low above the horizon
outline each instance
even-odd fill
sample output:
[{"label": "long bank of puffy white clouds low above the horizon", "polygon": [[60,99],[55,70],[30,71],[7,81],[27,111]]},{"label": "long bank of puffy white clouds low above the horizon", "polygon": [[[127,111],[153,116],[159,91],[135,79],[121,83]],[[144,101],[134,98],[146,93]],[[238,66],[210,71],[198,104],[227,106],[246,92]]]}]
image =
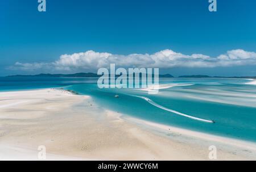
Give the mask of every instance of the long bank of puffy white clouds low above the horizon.
[{"label": "long bank of puffy white clouds low above the horizon", "polygon": [[122,68],[215,68],[228,66],[256,65],[256,53],[247,52],[243,49],[227,51],[217,57],[204,54],[185,55],[170,49],[154,54],[112,54],[86,51],[74,54],[63,54],[56,61],[50,63],[20,63],[16,62],[9,69],[13,70],[98,70],[109,68],[115,64]]}]

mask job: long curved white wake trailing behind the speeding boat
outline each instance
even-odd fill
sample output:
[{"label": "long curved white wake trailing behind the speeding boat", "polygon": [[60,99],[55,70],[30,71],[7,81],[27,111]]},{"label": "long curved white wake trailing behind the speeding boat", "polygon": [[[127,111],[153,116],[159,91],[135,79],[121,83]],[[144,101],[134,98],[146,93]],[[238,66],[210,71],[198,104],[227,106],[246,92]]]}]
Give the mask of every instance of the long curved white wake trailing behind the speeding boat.
[{"label": "long curved white wake trailing behind the speeding boat", "polygon": [[142,96],[137,96],[137,95],[134,95],[134,96],[135,96],[135,97],[138,97],[138,98],[142,98],[142,99],[146,100],[148,103],[150,103],[150,104],[152,104],[153,106],[156,106],[156,107],[158,107],[158,108],[161,108],[162,110],[166,110],[166,111],[168,111],[168,112],[172,112],[172,113],[177,114],[177,115],[185,116],[185,117],[190,118],[190,119],[193,119],[193,120],[198,120],[198,121],[202,121],[202,122],[205,122],[205,123],[214,123],[213,120],[201,119],[201,118],[197,118],[197,117],[195,117],[195,116],[186,115],[186,114],[183,114],[183,113],[174,111],[174,110],[170,110],[169,108],[163,107],[163,106],[161,106],[161,105],[155,103],[154,101],[152,101],[152,100],[149,99],[149,98],[142,97]]}]

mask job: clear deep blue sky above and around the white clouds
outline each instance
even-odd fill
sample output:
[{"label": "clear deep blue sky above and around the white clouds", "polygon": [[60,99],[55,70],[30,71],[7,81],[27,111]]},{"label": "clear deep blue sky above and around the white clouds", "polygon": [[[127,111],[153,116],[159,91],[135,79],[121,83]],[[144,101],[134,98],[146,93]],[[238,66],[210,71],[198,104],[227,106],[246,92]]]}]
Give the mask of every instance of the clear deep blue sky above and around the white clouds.
[{"label": "clear deep blue sky above and around the white clouds", "polygon": [[[92,50],[126,58],[132,53],[151,55],[165,49],[210,58],[221,54],[231,58],[227,51],[241,49],[249,54],[250,63],[229,62],[210,68],[205,64],[183,66],[180,62],[159,64],[162,73],[256,75],[256,57],[251,53],[256,52],[256,1],[217,0],[217,12],[209,12],[208,6],[208,0],[47,0],[47,12],[38,12],[37,0],[1,1],[0,75],[48,72],[62,54],[73,58],[74,53]],[[167,54],[166,58],[172,58]],[[83,56],[87,58],[86,53]],[[184,56],[179,57],[187,59]],[[191,62],[191,58],[185,62]],[[60,63],[61,68],[50,72],[97,71],[82,66],[62,68],[63,61]]]}]

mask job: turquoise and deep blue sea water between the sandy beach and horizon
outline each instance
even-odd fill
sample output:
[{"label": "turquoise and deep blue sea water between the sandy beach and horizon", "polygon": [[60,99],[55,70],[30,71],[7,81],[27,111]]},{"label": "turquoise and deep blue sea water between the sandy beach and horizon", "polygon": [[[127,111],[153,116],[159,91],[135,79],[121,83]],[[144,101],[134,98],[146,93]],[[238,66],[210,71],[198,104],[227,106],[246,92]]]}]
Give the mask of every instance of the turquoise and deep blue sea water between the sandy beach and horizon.
[{"label": "turquoise and deep blue sea water between the sandy beach and horizon", "polygon": [[98,89],[96,82],[97,78],[0,78],[0,90],[65,87],[135,118],[256,142],[256,85],[247,84],[252,82],[247,79],[161,78],[165,89],[156,95],[140,89]]}]

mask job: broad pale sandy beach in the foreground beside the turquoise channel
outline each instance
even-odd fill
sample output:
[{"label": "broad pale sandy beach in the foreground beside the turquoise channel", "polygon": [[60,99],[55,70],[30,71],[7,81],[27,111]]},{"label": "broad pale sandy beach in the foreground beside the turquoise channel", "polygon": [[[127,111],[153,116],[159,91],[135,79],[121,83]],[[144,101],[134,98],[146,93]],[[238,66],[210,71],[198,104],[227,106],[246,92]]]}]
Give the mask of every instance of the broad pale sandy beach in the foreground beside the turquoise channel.
[{"label": "broad pale sandy beach in the foreground beside the turquoise channel", "polygon": [[0,93],[0,160],[256,160],[256,145],[106,110],[84,95],[42,89]]}]

